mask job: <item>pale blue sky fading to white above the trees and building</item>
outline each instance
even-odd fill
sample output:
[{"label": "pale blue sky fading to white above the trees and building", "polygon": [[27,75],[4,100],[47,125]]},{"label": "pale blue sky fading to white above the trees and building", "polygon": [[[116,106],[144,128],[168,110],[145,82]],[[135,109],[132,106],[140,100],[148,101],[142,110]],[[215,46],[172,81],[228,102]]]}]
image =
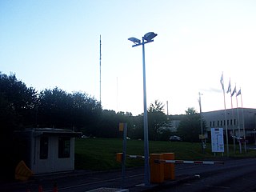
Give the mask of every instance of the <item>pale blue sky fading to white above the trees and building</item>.
[{"label": "pale blue sky fading to white above the trees and building", "polygon": [[[104,110],[142,114],[142,46],[128,38],[154,32],[145,45],[147,107],[158,100],[166,114],[199,112],[201,93],[202,112],[231,101],[256,108],[255,10],[254,0],[2,0],[0,71],[38,92],[80,91]],[[226,94],[229,81],[241,95]]]}]

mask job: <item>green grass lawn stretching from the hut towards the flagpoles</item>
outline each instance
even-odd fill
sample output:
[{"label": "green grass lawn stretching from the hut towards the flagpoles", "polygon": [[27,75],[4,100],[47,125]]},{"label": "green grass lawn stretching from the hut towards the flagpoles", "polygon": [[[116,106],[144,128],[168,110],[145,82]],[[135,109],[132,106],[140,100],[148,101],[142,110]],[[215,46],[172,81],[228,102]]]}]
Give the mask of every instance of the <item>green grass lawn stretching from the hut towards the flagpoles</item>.
[{"label": "green grass lawn stretching from the hut towards the flagpoles", "polygon": [[[210,143],[206,143],[205,153],[202,154],[201,143],[198,142],[149,142],[150,154],[174,153],[175,159],[182,160],[220,160],[226,158],[226,154],[214,154],[211,152]],[[242,154],[234,153],[230,144],[230,158],[256,157],[256,150],[247,150]],[[226,150],[226,148],[225,148]],[[122,152],[121,138],[76,138],[74,147],[74,166],[76,170],[114,170],[121,168],[121,163],[116,161],[116,153]],[[126,154],[144,154],[144,142],[127,140]],[[143,159],[126,158],[126,167],[143,166]]]}]

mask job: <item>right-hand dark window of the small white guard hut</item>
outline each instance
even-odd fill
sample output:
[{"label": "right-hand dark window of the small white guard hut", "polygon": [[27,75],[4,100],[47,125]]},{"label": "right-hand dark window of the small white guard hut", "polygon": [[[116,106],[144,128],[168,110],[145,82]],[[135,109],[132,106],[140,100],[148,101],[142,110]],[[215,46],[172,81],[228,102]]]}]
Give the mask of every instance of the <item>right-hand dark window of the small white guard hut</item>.
[{"label": "right-hand dark window of the small white guard hut", "polygon": [[70,158],[70,138],[58,138],[58,158]]}]

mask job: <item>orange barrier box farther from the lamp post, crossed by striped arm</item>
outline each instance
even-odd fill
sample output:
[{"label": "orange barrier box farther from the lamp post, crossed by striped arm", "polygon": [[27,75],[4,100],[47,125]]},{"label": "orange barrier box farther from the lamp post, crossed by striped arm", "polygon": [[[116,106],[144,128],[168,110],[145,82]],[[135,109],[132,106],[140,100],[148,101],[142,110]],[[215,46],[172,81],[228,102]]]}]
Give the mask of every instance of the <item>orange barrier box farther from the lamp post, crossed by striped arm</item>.
[{"label": "orange barrier box farther from the lamp post, crossed by striped arm", "polygon": [[[174,153],[164,153],[163,159],[165,160],[174,160]],[[175,179],[175,167],[174,163],[164,163],[164,178],[165,180],[174,180]]]}]

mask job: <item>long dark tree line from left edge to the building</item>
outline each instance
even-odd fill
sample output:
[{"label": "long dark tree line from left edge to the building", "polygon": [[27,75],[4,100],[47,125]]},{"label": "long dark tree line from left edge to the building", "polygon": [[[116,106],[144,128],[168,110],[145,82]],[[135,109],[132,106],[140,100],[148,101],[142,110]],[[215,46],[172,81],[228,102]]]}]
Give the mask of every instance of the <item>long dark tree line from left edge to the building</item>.
[{"label": "long dark tree line from left edge to the building", "polygon": [[[150,140],[168,140],[171,116],[163,112],[164,105],[156,100],[148,109],[148,125]],[[181,117],[183,117],[182,115]],[[178,133],[185,141],[194,142],[198,139],[198,115],[186,114],[181,119]],[[176,120],[177,120],[177,117]],[[194,119],[195,118],[195,119]],[[55,87],[38,92],[33,87],[18,80],[15,74],[0,72],[0,131],[2,147],[2,170],[8,169],[13,161],[15,130],[26,128],[62,128],[82,131],[82,134],[102,138],[122,138],[118,130],[119,122],[127,122],[128,137],[143,139],[143,114],[133,116],[130,112],[102,110],[101,103],[86,93],[67,93]],[[194,124],[192,126],[192,124]],[[197,134],[191,138],[191,134]],[[189,135],[190,138],[186,138]],[[9,166],[8,166],[9,165]],[[13,174],[6,170],[4,173]],[[6,174],[2,174],[6,178]]]}]

